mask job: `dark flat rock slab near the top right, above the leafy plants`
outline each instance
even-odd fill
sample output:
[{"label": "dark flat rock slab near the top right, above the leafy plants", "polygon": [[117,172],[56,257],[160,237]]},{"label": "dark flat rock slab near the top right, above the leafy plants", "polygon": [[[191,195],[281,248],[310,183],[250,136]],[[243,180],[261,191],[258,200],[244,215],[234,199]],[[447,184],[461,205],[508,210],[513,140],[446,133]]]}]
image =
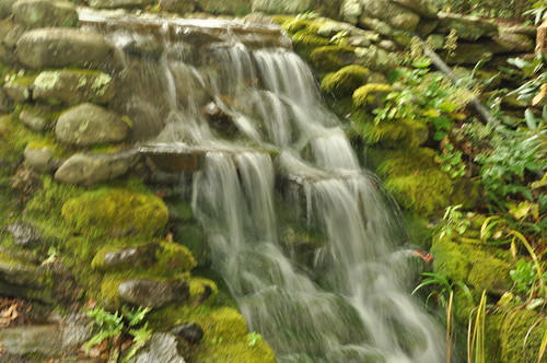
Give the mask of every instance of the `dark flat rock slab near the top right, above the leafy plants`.
[{"label": "dark flat rock slab near the top right, above the leafy plants", "polygon": [[480,37],[492,37],[499,33],[498,25],[476,16],[441,12],[439,20],[435,32],[449,34],[451,30],[455,30],[458,38],[464,40],[475,42]]}]

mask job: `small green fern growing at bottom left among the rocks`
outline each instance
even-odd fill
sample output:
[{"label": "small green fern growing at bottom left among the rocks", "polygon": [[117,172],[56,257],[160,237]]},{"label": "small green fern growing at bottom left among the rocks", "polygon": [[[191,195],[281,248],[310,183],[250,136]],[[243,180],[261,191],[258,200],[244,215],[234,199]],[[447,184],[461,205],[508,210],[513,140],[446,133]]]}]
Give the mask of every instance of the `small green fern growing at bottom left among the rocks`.
[{"label": "small green fern growing at bottom left among the rocks", "polygon": [[93,320],[96,332],[83,346],[85,353],[89,354],[94,346],[107,340],[110,346],[109,361],[118,362],[120,343],[124,338],[129,338],[132,340],[131,349],[121,360],[128,362],[152,336],[148,321],[144,321],[149,312],[149,307],[130,308],[124,305],[120,311],[110,313],[95,306],[88,312],[88,316]]}]

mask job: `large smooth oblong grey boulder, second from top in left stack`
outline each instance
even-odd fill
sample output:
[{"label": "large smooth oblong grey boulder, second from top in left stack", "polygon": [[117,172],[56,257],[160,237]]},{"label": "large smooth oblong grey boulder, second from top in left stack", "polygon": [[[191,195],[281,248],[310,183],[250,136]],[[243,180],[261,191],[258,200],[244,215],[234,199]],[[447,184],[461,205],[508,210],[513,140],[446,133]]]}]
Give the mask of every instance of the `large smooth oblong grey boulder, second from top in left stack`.
[{"label": "large smooth oblong grey boulder, second from top in left stack", "polygon": [[24,33],[18,40],[16,52],[30,68],[96,67],[110,54],[110,46],[97,33],[48,27]]}]

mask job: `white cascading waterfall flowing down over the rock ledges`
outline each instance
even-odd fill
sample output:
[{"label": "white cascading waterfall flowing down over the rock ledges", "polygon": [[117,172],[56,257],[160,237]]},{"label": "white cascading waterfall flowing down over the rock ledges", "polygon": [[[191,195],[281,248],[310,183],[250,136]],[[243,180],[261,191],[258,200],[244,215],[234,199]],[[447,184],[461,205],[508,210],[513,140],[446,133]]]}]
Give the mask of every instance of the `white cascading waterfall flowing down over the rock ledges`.
[{"label": "white cascading waterfall flowing down over the rock ledges", "polygon": [[[405,286],[397,223],[309,67],[281,47],[252,50],[236,32],[203,31],[196,45],[189,25],[170,26],[148,57],[127,49],[142,35],[103,28],[131,85],[118,107],[136,138],[209,148],[193,208],[249,328],[279,362],[443,361],[441,335]],[[210,102],[232,120],[229,137],[203,116]],[[292,227],[324,241],[307,265],[283,242]]]}]

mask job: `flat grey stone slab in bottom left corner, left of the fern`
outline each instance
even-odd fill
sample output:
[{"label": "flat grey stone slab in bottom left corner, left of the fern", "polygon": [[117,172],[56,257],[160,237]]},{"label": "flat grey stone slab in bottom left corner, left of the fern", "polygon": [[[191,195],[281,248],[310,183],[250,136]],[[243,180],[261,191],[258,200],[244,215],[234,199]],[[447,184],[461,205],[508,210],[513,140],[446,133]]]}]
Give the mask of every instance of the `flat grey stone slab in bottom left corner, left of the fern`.
[{"label": "flat grey stone slab in bottom left corner, left of the fern", "polygon": [[84,324],[36,325],[0,329],[0,344],[5,353],[14,355],[43,354],[62,356],[75,351],[90,339],[91,330]]}]

